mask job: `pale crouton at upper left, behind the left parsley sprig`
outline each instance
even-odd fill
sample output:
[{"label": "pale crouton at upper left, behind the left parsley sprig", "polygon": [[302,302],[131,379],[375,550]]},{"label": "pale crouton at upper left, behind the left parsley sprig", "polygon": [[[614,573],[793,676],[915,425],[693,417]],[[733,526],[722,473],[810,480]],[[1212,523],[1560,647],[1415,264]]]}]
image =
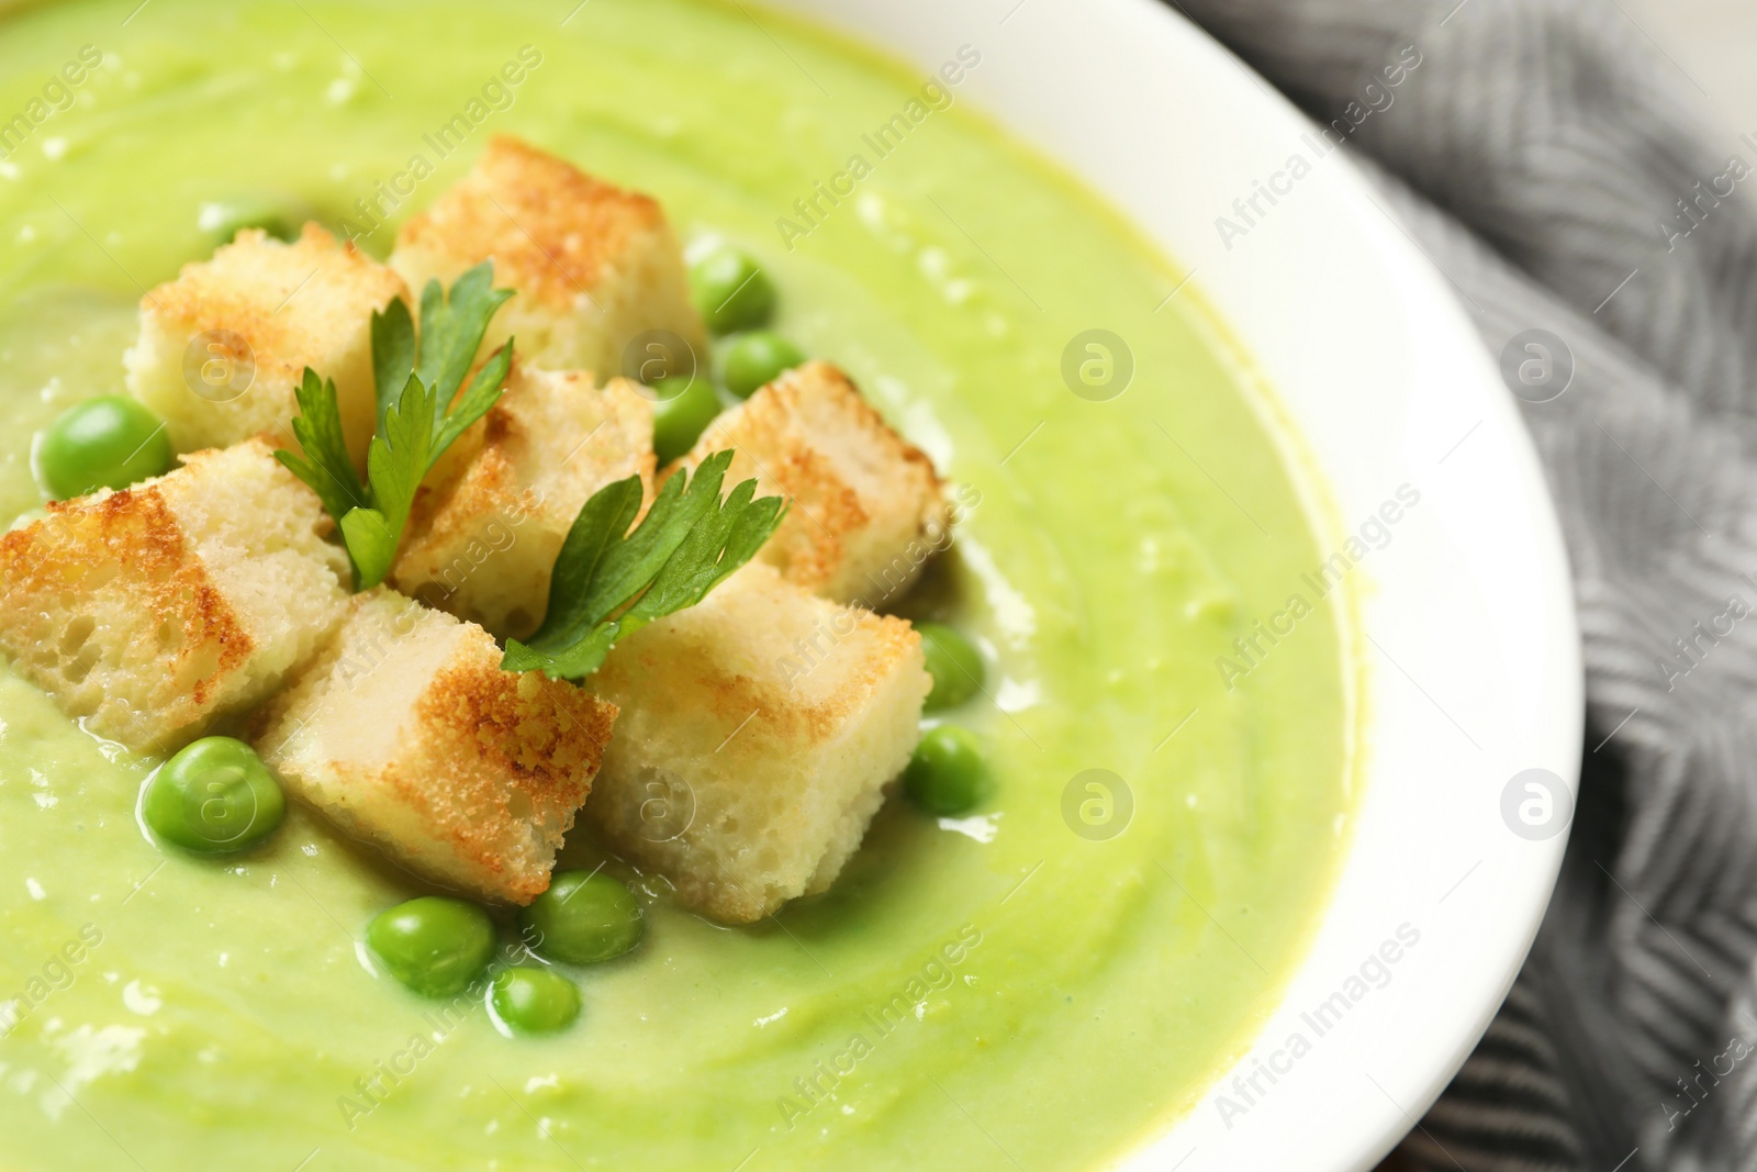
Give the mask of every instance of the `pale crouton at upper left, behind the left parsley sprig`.
[{"label": "pale crouton at upper left, behind the left parsley sprig", "polygon": [[179,452],[257,434],[295,448],[293,390],[311,367],[336,380],[348,452],[364,467],[378,418],[371,318],[394,297],[408,300],[402,278],[315,223],[292,244],[246,228],[141,300],[128,390],[163,416]]}]

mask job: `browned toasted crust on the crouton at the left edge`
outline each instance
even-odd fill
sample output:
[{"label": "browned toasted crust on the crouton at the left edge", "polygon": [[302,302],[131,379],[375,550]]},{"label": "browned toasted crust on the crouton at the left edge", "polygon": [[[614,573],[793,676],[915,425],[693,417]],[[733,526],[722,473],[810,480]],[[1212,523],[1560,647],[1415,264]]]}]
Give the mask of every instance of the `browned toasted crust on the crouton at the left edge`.
[{"label": "browned toasted crust on the crouton at the left edge", "polygon": [[56,629],[77,620],[83,601],[148,615],[151,624],[139,626],[151,627],[153,643],[128,650],[163,666],[151,719],[197,720],[255,645],[192,557],[163,492],[123,488],[51,503],[47,511],[0,538],[0,613],[7,615],[0,648],[23,675],[60,696],[84,678],[70,678],[77,648],[69,662],[67,629]]}]

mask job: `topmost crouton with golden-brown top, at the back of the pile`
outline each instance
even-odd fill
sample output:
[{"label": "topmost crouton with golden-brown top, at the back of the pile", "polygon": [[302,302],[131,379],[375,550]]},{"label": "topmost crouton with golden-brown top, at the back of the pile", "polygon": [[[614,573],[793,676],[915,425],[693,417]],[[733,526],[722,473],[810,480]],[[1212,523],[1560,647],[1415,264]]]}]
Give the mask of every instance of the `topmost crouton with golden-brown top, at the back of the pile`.
[{"label": "topmost crouton with golden-brown top, at the back of the pile", "polygon": [[538,365],[592,371],[603,383],[634,373],[622,369],[622,353],[638,334],[669,330],[706,362],[683,255],[645,195],[515,139],[494,139],[474,170],[402,225],[390,265],[420,292],[483,260],[494,260],[494,283],[515,297],[495,315],[481,353],[511,336]]}]

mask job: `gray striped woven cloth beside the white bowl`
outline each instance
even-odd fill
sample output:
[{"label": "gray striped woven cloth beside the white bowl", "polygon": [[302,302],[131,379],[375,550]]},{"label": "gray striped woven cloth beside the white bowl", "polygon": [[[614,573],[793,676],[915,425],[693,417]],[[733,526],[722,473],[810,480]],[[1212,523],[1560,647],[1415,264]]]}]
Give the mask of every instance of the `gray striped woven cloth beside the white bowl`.
[{"label": "gray striped woven cloth beside the white bowl", "polygon": [[1490,351],[1544,329],[1576,362],[1522,397],[1585,634],[1574,833],[1513,995],[1400,1151],[1757,1172],[1757,134],[1710,130],[1615,0],[1455,2],[1181,4],[1321,123],[1416,46],[1353,156]]}]

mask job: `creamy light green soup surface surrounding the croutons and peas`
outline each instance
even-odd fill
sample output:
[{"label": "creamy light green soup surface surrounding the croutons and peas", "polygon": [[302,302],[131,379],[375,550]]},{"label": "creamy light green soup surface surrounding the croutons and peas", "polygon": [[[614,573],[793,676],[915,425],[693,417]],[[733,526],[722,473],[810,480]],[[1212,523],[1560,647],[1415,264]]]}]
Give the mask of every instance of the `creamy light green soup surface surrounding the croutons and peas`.
[{"label": "creamy light green soup surface surrounding the croutons and peas", "polygon": [[[4,18],[4,518],[40,504],[32,434],[121,392],[142,290],[213,251],[206,206],[304,204],[385,255],[515,134],[759,257],[777,329],[975,503],[898,610],[989,652],[956,719],[998,785],[958,821],[893,798],[756,928],[611,859],[645,942],[576,973],[569,1031],[508,1038],[362,963],[420,882],[297,808],[165,854],[155,763],[0,673],[5,1165],[1089,1168],[1188,1111],[1348,840],[1341,594],[1197,286],[1167,302],[1184,274],[977,112],[1005,30],[922,74],[754,5],[137,4]],[[1065,374],[1095,329],[1126,374],[1114,344]],[[576,833],[564,865],[599,861]]]}]

